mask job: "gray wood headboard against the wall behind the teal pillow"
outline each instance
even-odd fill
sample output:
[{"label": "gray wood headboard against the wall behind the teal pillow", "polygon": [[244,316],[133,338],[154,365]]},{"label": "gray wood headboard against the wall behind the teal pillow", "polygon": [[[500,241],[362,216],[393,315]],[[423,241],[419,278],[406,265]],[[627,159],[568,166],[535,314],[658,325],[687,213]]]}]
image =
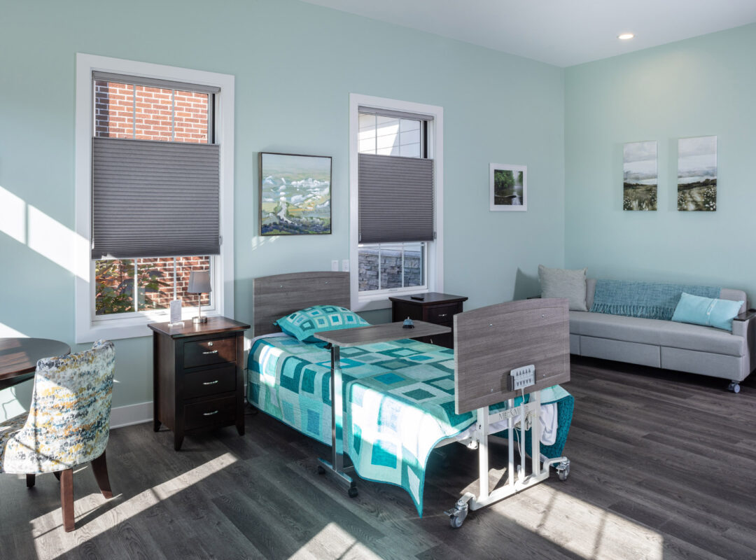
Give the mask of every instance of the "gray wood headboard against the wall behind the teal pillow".
[{"label": "gray wood headboard against the wall behind the teal pillow", "polygon": [[349,308],[349,272],[295,272],[253,280],[253,336],[279,333],[274,321],[311,305]]}]

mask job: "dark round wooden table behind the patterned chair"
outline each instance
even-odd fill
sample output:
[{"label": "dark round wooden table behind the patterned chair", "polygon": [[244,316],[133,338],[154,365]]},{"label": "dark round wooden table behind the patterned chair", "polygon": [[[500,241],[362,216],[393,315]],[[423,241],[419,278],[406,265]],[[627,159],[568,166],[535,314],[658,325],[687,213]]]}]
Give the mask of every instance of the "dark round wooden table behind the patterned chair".
[{"label": "dark round wooden table behind the patterned chair", "polygon": [[65,342],[51,339],[0,339],[0,389],[32,379],[37,360],[70,354]]}]

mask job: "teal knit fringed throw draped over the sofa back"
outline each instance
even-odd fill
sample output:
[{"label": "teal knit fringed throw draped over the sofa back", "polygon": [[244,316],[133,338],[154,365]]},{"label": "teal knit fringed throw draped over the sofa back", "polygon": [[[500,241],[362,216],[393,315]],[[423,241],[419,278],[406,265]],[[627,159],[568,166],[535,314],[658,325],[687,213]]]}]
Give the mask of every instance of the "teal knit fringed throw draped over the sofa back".
[{"label": "teal knit fringed throw draped over the sofa back", "polygon": [[719,298],[720,288],[655,282],[596,280],[593,313],[671,320],[683,292],[703,298]]}]

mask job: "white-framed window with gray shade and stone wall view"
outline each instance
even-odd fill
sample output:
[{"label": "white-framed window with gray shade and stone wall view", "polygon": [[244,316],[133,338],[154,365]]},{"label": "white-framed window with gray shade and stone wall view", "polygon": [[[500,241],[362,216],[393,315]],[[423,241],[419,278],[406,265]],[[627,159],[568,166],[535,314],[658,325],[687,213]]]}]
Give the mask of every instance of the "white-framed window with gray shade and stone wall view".
[{"label": "white-framed window with gray shade and stone wall view", "polygon": [[352,110],[352,305],[381,308],[388,295],[441,289],[442,110],[357,95]]}]

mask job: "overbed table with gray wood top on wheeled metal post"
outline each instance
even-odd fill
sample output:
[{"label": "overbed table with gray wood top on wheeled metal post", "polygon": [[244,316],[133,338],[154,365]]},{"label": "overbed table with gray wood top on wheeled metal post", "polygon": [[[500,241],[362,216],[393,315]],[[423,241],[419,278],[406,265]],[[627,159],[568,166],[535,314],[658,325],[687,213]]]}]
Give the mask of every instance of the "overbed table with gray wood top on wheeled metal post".
[{"label": "overbed table with gray wood top on wheeled metal post", "polygon": [[415,321],[414,329],[404,329],[404,323],[386,323],[383,325],[357,326],[354,329],[326,330],[316,333],[316,339],[321,339],[331,345],[331,454],[332,461],[318,459],[318,472],[336,475],[336,479],[349,485],[349,497],[357,496],[357,486],[352,473],[354,466],[344,466],[343,413],[344,388],[341,379],[340,348],[343,346],[362,346],[377,342],[391,342],[392,340],[415,339],[420,336],[435,336],[451,333],[448,326]]}]

